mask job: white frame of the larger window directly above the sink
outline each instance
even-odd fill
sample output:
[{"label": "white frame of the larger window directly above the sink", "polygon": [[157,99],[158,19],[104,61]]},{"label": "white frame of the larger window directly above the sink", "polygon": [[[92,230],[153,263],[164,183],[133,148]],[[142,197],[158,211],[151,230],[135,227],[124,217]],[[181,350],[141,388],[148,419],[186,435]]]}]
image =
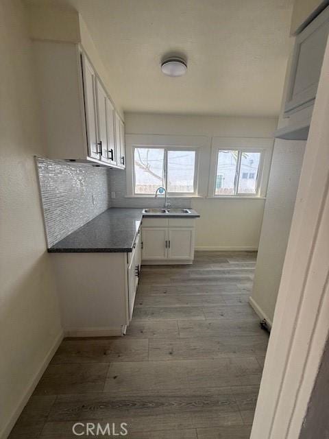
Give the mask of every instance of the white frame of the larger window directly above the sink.
[{"label": "white frame of the larger window directly above the sink", "polygon": [[[168,152],[169,151],[193,151],[195,152],[195,162],[194,162],[194,178],[193,178],[193,192],[170,192],[167,191],[167,197],[195,197],[198,192],[198,176],[199,176],[199,147],[195,146],[173,146],[173,145],[132,145],[132,195],[134,197],[149,197],[154,195],[154,193],[136,193],[136,176],[135,176],[135,165],[134,157],[135,150],[138,148],[164,150],[163,158],[163,187],[167,191],[168,187]],[[160,187],[160,185],[159,185]]]}]

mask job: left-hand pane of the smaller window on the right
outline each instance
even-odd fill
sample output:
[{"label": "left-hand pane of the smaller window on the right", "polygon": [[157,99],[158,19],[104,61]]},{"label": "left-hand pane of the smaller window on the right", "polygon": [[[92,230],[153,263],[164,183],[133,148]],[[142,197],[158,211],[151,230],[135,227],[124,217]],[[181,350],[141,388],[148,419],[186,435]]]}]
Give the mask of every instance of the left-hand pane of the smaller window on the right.
[{"label": "left-hand pane of the smaller window on the right", "polygon": [[237,151],[218,152],[215,195],[234,195]]}]

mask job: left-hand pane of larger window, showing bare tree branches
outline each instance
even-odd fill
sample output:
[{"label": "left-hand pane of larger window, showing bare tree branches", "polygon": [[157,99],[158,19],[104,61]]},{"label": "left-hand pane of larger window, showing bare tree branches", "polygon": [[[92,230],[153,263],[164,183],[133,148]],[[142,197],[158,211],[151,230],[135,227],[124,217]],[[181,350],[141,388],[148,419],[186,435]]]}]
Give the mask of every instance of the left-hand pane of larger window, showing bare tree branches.
[{"label": "left-hand pane of larger window, showing bare tree branches", "polygon": [[155,193],[163,181],[164,150],[161,148],[135,148],[135,193]]}]

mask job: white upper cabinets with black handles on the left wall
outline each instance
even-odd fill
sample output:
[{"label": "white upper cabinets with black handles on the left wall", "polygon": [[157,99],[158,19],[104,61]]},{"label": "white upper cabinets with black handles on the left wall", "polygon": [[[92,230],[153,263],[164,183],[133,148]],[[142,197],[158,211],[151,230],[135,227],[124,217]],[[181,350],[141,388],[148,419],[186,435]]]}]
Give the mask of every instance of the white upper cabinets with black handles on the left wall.
[{"label": "white upper cabinets with black handles on the left wall", "polygon": [[35,41],[47,156],[125,168],[125,128],[76,44]]}]

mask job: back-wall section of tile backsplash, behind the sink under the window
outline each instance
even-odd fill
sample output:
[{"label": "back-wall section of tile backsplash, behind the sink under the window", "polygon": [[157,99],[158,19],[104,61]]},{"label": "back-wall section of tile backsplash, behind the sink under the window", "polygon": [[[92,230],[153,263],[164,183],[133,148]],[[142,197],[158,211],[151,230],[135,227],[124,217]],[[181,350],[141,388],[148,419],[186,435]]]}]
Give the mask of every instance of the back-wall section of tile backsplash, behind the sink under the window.
[{"label": "back-wall section of tile backsplash, behind the sink under the window", "polygon": [[[162,207],[164,199],[159,198],[127,198],[125,171],[110,169],[108,172],[108,187],[115,192],[111,199],[112,207]],[[172,207],[191,207],[191,198],[168,198]]]}]

